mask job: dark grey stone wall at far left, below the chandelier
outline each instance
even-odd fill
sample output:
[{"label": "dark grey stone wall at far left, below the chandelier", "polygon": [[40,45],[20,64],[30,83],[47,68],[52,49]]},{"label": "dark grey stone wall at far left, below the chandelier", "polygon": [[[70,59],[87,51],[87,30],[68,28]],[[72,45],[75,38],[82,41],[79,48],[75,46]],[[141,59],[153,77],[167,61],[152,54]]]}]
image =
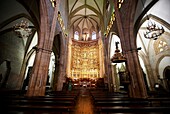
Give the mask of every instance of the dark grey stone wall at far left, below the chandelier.
[{"label": "dark grey stone wall at far left, below the chandelier", "polygon": [[8,32],[0,36],[0,74],[5,78],[7,66],[5,61],[10,62],[9,78],[7,88],[15,89],[18,83],[22,61],[24,58],[24,42],[21,38],[14,35],[14,32]]}]

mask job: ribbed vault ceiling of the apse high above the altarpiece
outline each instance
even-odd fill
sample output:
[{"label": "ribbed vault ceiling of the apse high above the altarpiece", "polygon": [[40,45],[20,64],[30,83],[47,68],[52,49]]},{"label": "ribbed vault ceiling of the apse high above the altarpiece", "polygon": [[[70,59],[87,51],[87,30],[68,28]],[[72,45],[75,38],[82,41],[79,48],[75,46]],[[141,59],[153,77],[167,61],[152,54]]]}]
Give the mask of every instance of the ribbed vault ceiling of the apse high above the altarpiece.
[{"label": "ribbed vault ceiling of the apse high above the altarpiece", "polygon": [[80,30],[100,27],[104,0],[68,0],[71,27]]}]

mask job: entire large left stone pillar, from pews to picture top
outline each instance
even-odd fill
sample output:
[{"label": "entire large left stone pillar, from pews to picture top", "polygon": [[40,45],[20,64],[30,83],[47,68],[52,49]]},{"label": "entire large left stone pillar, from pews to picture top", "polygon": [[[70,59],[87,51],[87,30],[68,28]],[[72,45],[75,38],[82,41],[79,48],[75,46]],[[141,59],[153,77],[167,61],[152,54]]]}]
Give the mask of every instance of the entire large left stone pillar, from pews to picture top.
[{"label": "entire large left stone pillar, from pews to picture top", "polygon": [[57,23],[58,4],[54,9],[54,17],[50,28],[50,20],[48,18],[48,2],[40,0],[40,30],[38,31],[38,46],[36,48],[35,62],[33,65],[28,90],[26,96],[44,96],[46,89],[46,81],[48,76],[49,62],[51,58],[54,33]]}]

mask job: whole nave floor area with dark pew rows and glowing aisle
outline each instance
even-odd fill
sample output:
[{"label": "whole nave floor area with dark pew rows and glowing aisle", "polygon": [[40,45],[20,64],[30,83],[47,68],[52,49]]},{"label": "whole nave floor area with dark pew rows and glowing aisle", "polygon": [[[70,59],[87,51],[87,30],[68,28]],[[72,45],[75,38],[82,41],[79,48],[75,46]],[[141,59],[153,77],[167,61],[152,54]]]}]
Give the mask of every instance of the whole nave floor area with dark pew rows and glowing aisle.
[{"label": "whole nave floor area with dark pew rows and glowing aisle", "polygon": [[3,114],[168,114],[170,97],[130,98],[105,89],[79,88],[27,97],[24,91],[0,91]]}]

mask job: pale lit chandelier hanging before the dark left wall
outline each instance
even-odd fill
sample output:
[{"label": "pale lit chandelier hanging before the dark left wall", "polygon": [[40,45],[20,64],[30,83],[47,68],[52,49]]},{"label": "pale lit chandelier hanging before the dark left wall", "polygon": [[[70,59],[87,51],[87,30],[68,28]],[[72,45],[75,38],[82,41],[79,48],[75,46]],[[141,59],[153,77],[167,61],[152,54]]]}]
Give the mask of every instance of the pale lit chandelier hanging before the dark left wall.
[{"label": "pale lit chandelier hanging before the dark left wall", "polygon": [[19,38],[28,38],[32,34],[31,29],[29,28],[29,23],[27,21],[21,21],[14,25],[14,32]]}]

